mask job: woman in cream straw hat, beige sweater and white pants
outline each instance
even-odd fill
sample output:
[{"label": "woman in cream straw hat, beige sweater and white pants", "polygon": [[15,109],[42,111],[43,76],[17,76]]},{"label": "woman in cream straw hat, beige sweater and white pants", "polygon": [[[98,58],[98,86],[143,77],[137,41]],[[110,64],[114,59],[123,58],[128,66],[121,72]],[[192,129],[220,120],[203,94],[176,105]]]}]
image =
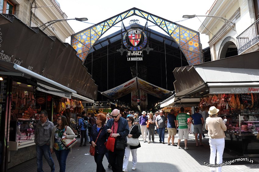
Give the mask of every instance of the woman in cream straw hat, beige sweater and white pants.
[{"label": "woman in cream straw hat, beige sweater and white pants", "polygon": [[[225,133],[227,130],[223,119],[218,117],[218,109],[211,106],[206,119],[205,128],[208,130],[209,143],[211,147],[210,164],[215,164],[215,157],[217,153],[217,164],[222,163],[222,156],[225,147]],[[221,172],[222,167],[217,167],[217,172]],[[210,167],[211,172],[215,172],[215,167]]]}]

